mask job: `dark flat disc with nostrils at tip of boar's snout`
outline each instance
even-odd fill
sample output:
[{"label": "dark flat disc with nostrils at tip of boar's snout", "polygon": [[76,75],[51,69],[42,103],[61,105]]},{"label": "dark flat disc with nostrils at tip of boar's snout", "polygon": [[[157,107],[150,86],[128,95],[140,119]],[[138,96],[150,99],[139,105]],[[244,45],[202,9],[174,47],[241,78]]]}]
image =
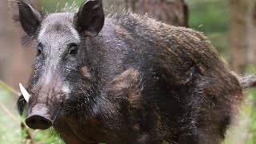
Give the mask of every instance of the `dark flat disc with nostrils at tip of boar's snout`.
[{"label": "dark flat disc with nostrils at tip of boar's snout", "polygon": [[26,125],[32,129],[46,130],[52,126],[52,124],[53,122],[50,119],[44,118],[41,115],[32,115],[26,118]]}]

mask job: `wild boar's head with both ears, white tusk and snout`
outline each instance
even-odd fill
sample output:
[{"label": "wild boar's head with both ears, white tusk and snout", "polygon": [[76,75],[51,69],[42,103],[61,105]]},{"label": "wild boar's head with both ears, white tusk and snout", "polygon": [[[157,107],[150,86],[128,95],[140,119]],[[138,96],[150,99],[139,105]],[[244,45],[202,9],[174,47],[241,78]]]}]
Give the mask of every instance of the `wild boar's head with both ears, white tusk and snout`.
[{"label": "wild boar's head with both ears, white tusk and snout", "polygon": [[89,68],[84,39],[102,30],[102,2],[89,0],[77,13],[48,15],[30,2],[17,0],[14,6],[14,22],[24,33],[22,43],[31,43],[37,52],[29,85],[26,89],[21,86],[25,98],[18,98],[18,110],[21,114],[25,110],[27,126],[45,130],[67,113],[67,102],[78,94],[86,96],[90,90],[92,78],[86,74]]}]

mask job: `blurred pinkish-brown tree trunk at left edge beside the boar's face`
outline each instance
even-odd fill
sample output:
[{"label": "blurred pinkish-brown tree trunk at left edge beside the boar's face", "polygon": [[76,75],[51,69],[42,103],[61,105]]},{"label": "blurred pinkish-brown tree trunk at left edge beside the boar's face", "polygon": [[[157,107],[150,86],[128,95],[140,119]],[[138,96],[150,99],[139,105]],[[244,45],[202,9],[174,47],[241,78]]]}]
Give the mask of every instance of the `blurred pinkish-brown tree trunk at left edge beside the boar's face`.
[{"label": "blurred pinkish-brown tree trunk at left edge beside the boar's face", "polygon": [[0,79],[18,90],[18,82],[25,83],[30,74],[33,50],[21,48],[10,17],[8,1],[0,1]]}]

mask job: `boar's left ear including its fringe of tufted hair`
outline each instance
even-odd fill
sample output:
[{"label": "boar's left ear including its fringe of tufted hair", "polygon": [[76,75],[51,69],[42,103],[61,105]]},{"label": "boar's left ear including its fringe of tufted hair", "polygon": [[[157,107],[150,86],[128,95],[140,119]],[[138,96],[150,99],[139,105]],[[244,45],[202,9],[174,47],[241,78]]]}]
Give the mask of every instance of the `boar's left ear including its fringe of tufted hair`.
[{"label": "boar's left ear including its fringe of tufted hair", "polygon": [[41,25],[43,18],[41,12],[31,5],[30,0],[11,0],[10,6],[12,8],[14,22],[24,32],[23,38],[33,38]]}]

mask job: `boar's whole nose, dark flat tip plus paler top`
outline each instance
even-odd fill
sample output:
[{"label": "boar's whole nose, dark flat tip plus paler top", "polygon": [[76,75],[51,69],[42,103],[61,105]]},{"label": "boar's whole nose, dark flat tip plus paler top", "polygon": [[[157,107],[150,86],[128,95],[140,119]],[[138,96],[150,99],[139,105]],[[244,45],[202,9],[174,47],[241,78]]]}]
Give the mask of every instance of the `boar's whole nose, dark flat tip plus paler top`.
[{"label": "boar's whole nose, dark flat tip plus paler top", "polygon": [[50,110],[43,106],[35,106],[25,122],[31,129],[40,130],[46,130],[53,125],[53,121],[50,119]]}]

